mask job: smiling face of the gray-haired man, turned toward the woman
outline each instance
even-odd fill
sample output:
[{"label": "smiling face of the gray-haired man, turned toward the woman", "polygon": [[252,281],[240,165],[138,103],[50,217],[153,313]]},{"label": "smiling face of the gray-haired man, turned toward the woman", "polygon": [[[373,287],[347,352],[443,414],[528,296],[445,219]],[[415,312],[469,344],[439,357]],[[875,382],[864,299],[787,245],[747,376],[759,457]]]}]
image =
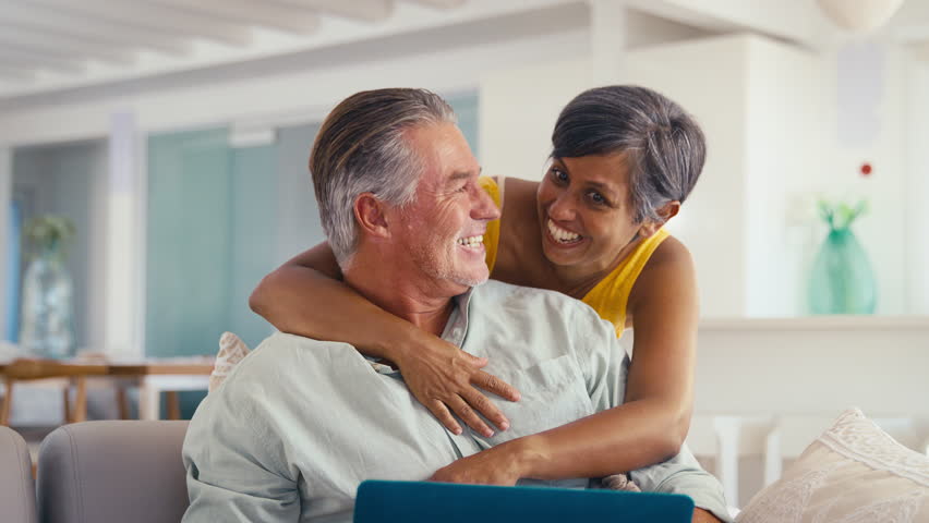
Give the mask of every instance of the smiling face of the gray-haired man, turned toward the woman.
[{"label": "smiling face of the gray-haired man, turned toward the woman", "polygon": [[460,294],[488,277],[482,236],[499,210],[478,184],[481,168],[457,125],[414,127],[407,138],[425,170],[415,202],[396,211],[393,238],[413,277]]}]

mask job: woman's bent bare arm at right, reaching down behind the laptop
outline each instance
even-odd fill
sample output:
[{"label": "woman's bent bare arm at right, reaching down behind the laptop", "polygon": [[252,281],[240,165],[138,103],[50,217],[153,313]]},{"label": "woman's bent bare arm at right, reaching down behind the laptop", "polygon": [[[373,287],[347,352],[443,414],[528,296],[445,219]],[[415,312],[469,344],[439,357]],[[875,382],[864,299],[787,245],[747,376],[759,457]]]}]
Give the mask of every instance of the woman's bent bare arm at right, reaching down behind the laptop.
[{"label": "woman's bent bare arm at right, reaching down behind the laptop", "polygon": [[512,484],[520,477],[602,477],[677,454],[690,423],[697,302],[690,255],[668,238],[629,297],[636,330],[625,403],[494,447],[482,460],[459,460],[434,478]]}]

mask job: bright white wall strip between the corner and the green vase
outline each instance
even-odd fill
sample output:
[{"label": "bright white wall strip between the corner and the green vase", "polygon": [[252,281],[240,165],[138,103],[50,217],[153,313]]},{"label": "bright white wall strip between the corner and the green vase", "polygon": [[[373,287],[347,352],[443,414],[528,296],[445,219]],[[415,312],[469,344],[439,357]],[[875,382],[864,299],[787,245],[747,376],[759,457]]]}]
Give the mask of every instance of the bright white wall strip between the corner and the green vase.
[{"label": "bright white wall strip between the corner and the green vase", "polygon": [[808,50],[763,38],[744,44],[745,314],[803,315],[809,266],[824,234],[813,232],[812,192],[831,169],[827,77],[822,59]]}]

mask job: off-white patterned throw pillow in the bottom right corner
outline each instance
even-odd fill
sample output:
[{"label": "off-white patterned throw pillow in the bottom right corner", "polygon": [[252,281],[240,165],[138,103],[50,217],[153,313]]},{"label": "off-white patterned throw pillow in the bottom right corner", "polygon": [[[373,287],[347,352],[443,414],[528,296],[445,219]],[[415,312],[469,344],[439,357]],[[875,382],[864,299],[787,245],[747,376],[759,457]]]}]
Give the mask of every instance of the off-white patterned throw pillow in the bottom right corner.
[{"label": "off-white patterned throw pillow in the bottom right corner", "polygon": [[737,523],[929,522],[929,457],[844,412]]}]

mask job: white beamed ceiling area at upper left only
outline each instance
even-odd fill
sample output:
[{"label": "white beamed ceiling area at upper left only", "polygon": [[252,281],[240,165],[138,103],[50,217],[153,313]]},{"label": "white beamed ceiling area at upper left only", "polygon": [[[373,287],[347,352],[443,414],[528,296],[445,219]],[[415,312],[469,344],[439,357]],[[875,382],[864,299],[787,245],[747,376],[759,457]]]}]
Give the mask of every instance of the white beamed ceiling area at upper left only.
[{"label": "white beamed ceiling area at upper left only", "polygon": [[[468,3],[476,9],[468,9]],[[478,15],[488,3],[495,2],[0,0],[0,97],[197,69],[435,26],[446,20]]]}]

